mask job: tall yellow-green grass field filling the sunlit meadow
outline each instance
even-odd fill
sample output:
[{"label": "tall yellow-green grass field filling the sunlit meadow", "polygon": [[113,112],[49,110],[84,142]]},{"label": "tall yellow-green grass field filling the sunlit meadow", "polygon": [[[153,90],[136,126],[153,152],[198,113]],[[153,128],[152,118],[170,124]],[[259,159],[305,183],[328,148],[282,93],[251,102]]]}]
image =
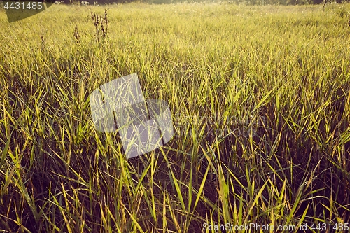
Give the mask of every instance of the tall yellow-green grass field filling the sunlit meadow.
[{"label": "tall yellow-green grass field filling the sunlit meadow", "polygon": [[[0,11],[0,232],[344,232],[349,20],[350,4]],[[130,73],[175,135],[125,160],[89,94]]]}]

